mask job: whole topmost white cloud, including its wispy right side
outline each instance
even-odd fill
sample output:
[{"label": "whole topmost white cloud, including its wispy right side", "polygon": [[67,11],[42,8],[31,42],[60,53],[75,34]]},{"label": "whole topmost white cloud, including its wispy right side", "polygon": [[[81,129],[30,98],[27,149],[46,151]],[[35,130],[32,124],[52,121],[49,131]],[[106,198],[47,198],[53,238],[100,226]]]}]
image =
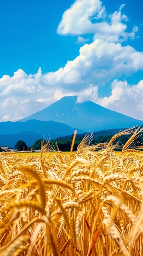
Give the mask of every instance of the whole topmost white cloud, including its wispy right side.
[{"label": "whole topmost white cloud, including its wispy right side", "polygon": [[[61,35],[95,34],[94,39],[104,39],[110,42],[123,42],[128,38],[134,39],[138,27],[132,32],[126,32],[127,16],[122,15],[121,5],[119,11],[111,15],[105,12],[100,0],[76,0],[62,16],[57,33]],[[98,21],[102,19],[102,21]]]}]

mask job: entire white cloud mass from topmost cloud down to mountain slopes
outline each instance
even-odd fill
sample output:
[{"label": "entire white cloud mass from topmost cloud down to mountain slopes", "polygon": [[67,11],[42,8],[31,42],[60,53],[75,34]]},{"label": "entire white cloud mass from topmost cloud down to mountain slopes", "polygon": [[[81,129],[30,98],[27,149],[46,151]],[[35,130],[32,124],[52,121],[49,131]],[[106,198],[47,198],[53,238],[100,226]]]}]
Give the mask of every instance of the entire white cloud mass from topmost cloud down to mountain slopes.
[{"label": "entire white cloud mass from topmost cloud down to mountain slopes", "polygon": [[[143,70],[143,52],[122,44],[133,40],[138,30],[134,27],[128,32],[123,7],[108,15],[100,0],[76,0],[63,13],[57,33],[77,35],[76,43],[83,44],[79,55],[55,72],[43,74],[39,68],[36,74],[26,74],[18,69],[11,77],[4,75],[0,79],[0,122],[19,120],[69,95],[77,95],[80,103],[92,100],[143,119],[143,80],[136,85],[126,81]],[[93,41],[89,43],[83,36],[90,33]],[[99,94],[100,86],[108,88],[108,97]]]}]

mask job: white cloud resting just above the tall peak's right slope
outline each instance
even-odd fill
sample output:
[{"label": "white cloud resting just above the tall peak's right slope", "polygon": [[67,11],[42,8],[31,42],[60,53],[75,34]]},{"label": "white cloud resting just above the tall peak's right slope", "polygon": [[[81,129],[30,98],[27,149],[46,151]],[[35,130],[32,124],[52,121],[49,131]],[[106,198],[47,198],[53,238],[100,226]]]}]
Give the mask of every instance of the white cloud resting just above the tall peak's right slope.
[{"label": "white cloud resting just above the tall peak's right slope", "polygon": [[130,86],[115,79],[109,97],[98,98],[98,104],[113,111],[143,120],[143,80]]}]

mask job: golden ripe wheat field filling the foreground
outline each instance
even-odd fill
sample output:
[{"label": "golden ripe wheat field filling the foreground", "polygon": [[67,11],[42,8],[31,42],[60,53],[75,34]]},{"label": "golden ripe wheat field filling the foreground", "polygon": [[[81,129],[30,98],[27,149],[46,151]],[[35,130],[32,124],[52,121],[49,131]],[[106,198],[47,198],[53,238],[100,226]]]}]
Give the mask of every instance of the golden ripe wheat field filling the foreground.
[{"label": "golden ripe wheat field filling the foreground", "polygon": [[[141,128],[73,154],[0,153],[0,256],[143,256]],[[131,134],[117,155],[116,138]]]}]

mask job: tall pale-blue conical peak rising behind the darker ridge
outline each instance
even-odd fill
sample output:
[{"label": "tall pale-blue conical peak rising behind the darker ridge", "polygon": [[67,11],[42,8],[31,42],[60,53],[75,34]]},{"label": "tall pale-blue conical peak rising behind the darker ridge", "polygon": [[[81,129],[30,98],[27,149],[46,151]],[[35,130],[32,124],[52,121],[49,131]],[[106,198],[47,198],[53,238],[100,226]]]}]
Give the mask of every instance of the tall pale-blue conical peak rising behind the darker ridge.
[{"label": "tall pale-blue conical peak rising behind the darker ridge", "polygon": [[76,102],[77,96],[63,97],[49,107],[21,119],[20,122],[31,119],[52,120],[71,127],[77,127],[86,132],[143,125],[141,120],[108,110],[92,101],[85,103]]}]

